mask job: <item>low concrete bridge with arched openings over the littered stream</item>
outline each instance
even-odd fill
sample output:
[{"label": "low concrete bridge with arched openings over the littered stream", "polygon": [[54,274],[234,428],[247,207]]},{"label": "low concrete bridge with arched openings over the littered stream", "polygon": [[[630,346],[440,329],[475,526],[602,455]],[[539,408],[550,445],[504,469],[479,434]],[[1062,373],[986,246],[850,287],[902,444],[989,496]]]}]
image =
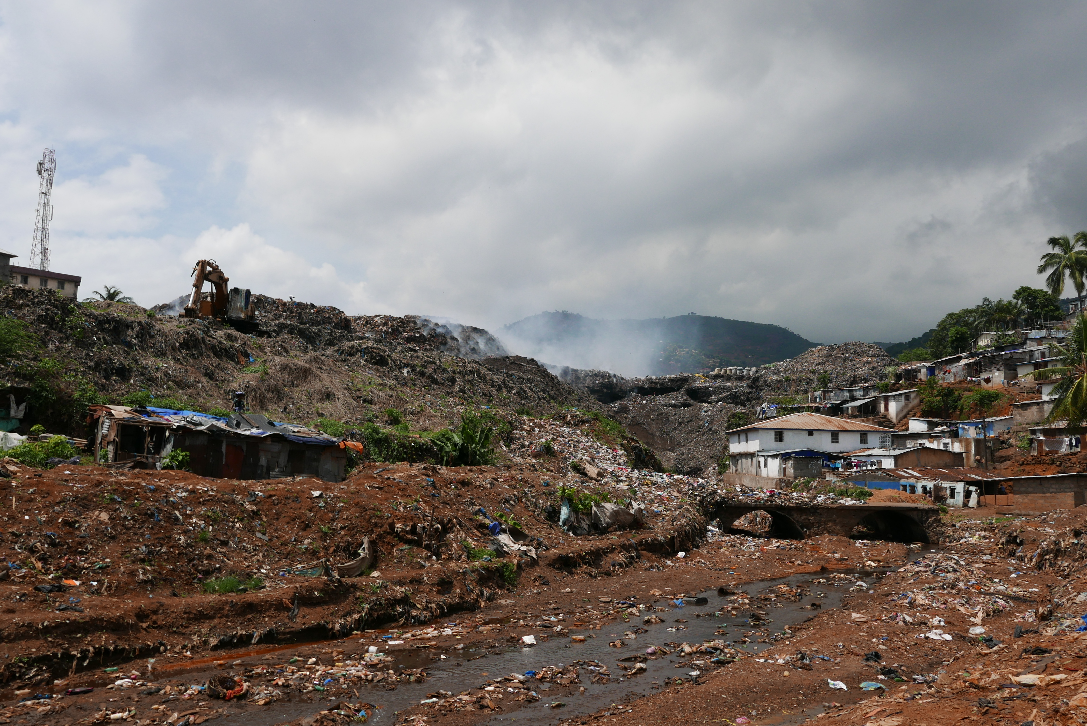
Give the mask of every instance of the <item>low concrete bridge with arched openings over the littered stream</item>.
[{"label": "low concrete bridge with arched openings over the littered stream", "polygon": [[940,510],[934,505],[801,505],[775,501],[721,501],[710,512],[722,528],[751,512],[766,512],[774,523],[771,535],[784,539],[805,539],[821,534],[848,537],[864,525],[876,533],[875,539],[891,542],[929,542],[929,533],[939,521]]}]

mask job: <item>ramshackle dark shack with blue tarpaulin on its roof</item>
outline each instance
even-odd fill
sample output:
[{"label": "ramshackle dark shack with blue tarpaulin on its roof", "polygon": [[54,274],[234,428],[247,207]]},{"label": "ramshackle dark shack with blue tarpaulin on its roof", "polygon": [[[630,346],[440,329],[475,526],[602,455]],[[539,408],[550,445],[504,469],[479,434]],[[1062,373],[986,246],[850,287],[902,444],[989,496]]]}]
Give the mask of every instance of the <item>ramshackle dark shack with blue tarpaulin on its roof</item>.
[{"label": "ramshackle dark shack with blue tarpaulin on its roof", "polygon": [[[343,480],[339,438],[257,413],[230,418],[166,408],[92,406],[95,451],[109,466],[161,469],[171,451],[188,451],[189,469],[216,479],[318,476]],[[126,462],[130,462],[127,463]]]}]

